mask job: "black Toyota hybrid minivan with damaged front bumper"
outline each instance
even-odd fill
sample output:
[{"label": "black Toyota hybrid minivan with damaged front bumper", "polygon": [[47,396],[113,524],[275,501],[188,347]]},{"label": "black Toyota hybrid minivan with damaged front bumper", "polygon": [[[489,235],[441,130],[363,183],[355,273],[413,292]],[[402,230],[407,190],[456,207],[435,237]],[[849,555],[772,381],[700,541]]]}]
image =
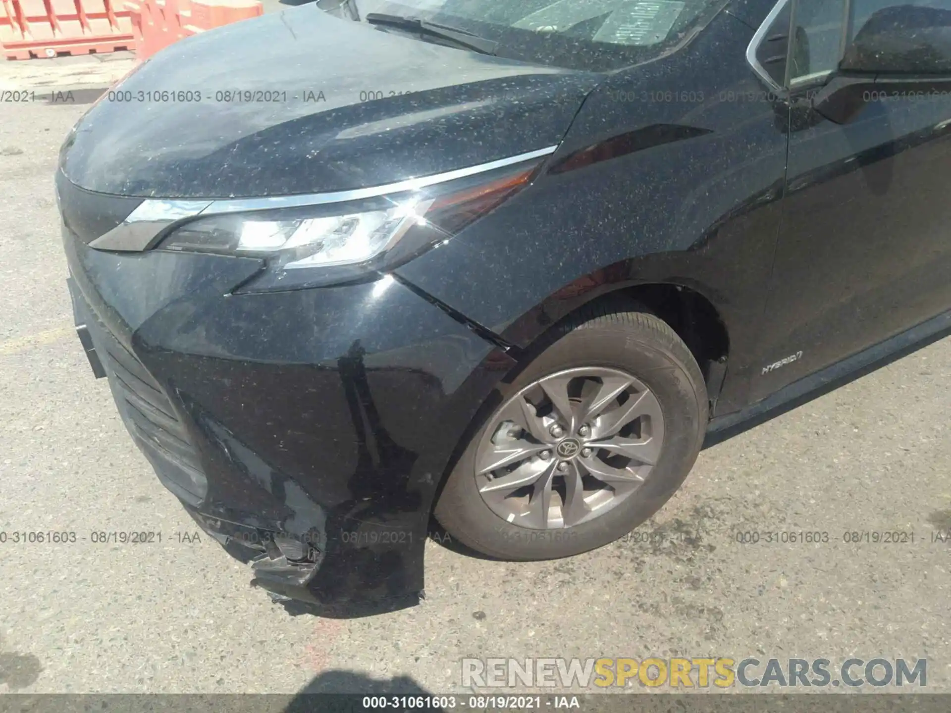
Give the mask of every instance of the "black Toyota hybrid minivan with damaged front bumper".
[{"label": "black Toyota hybrid minivan with damaged front bumper", "polygon": [[56,186],[165,486],[275,599],[401,607],[431,517],[600,547],[951,331],[951,0],[324,1],[146,61]]}]

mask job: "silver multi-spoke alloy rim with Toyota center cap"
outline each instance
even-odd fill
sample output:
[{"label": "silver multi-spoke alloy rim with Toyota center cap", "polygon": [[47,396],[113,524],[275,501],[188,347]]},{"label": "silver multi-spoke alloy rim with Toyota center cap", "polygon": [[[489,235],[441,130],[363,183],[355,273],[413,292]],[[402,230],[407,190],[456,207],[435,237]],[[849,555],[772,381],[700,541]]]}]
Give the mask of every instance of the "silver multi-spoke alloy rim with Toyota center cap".
[{"label": "silver multi-spoke alloy rim with Toyota center cap", "polygon": [[476,451],[476,486],[506,522],[571,528],[637,491],[663,445],[660,402],[643,382],[617,369],[569,369],[495,413]]}]

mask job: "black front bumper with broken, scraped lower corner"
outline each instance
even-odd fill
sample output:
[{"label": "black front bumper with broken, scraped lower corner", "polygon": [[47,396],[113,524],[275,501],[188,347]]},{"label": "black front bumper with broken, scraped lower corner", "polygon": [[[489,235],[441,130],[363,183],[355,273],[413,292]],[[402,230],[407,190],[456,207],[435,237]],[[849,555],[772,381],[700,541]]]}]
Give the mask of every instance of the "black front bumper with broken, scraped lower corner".
[{"label": "black front bumper with broken, scraped lower corner", "polygon": [[64,238],[94,373],[252,584],[327,616],[417,604],[439,481],[512,360],[398,282],[233,295],[254,260]]}]

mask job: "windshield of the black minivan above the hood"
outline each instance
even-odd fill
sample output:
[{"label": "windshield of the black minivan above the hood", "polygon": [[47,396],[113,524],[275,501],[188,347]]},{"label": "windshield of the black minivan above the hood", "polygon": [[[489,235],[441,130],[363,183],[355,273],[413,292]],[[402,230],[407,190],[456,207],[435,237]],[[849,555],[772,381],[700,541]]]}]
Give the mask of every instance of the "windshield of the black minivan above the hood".
[{"label": "windshield of the black minivan above the hood", "polygon": [[727,0],[342,0],[370,12],[418,17],[498,43],[495,54],[557,67],[608,71],[675,48]]}]

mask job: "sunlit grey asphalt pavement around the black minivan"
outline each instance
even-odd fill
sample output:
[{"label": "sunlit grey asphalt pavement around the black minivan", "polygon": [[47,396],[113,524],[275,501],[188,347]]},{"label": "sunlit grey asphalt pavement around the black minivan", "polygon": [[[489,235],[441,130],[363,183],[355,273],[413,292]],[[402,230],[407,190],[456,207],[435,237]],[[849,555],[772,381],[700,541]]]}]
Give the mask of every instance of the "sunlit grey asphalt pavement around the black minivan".
[{"label": "sunlit grey asphalt pavement around the black minivan", "polygon": [[[272,604],[193,537],[73,332],[52,175],[85,108],[0,104],[0,692],[448,693],[471,690],[463,658],[648,656],[926,658],[951,692],[951,339],[702,453],[604,549],[511,564],[430,542],[419,607]],[[12,542],[29,531],[85,539]],[[738,542],[790,531],[829,541]]]}]

